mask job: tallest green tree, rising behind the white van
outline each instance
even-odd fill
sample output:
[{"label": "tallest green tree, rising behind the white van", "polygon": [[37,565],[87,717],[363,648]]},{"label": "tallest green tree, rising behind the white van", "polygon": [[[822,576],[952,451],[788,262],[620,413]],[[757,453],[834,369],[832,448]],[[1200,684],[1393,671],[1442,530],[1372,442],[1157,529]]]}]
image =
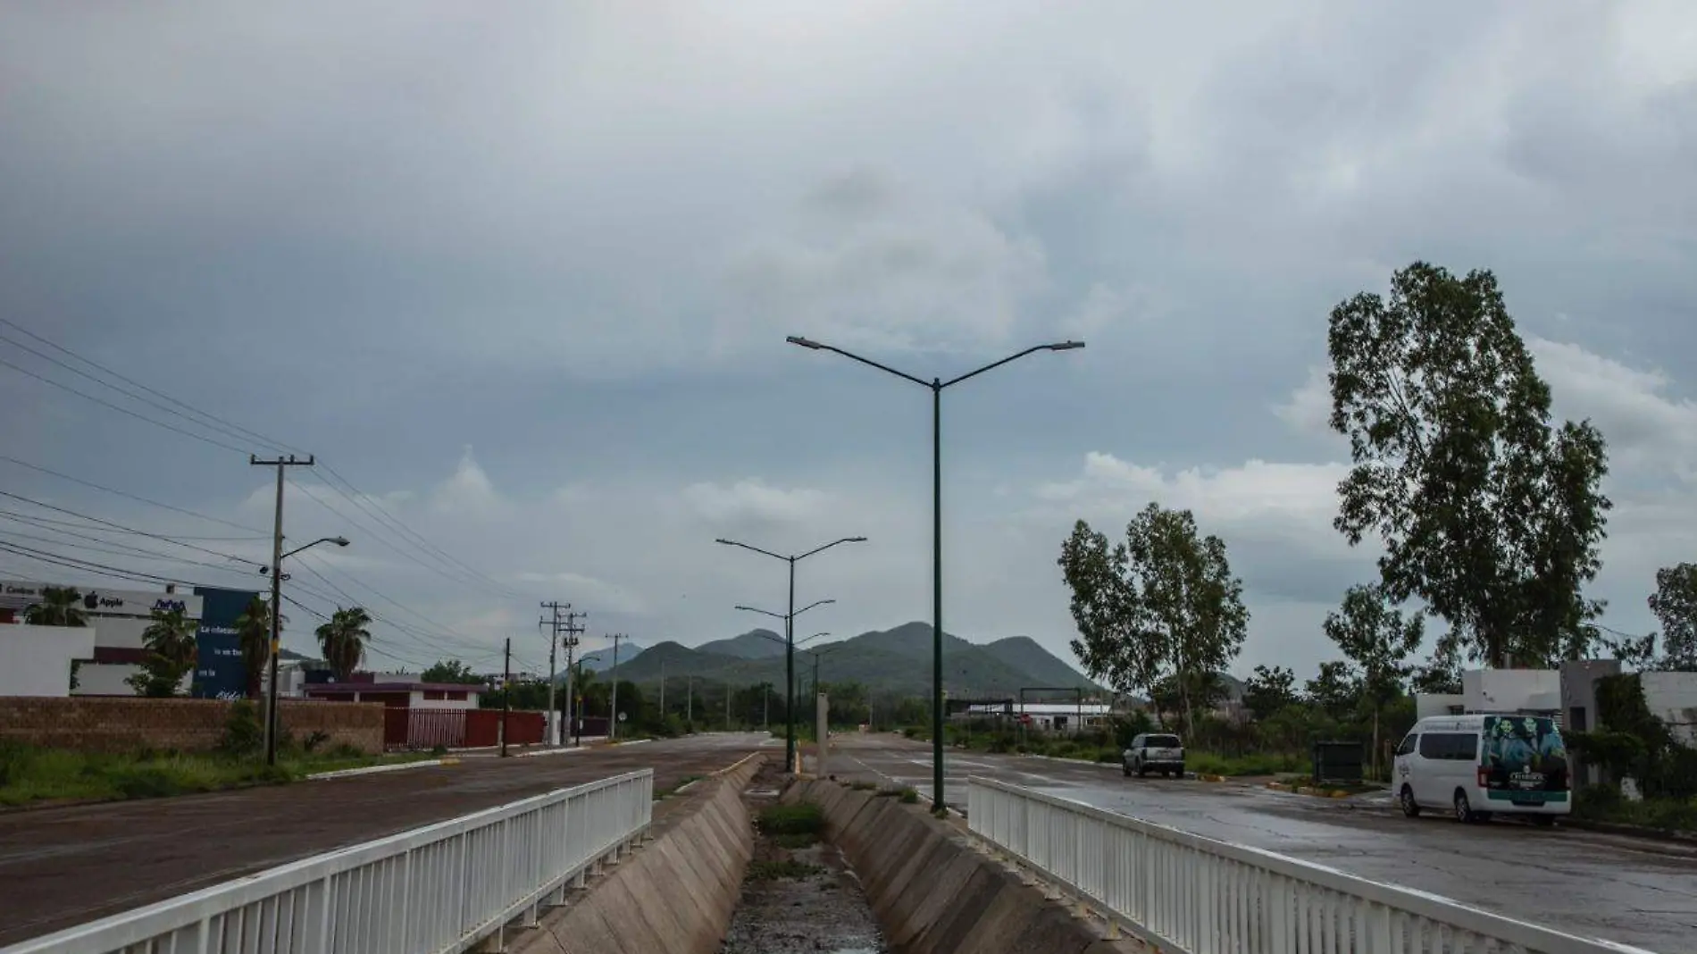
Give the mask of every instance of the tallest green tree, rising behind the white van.
[{"label": "tallest green tree, rising behind the white van", "polygon": [[1336,526],[1381,538],[1388,598],[1422,599],[1449,623],[1441,642],[1488,665],[1582,655],[1602,609],[1583,587],[1610,506],[1604,438],[1551,424],[1497,278],[1415,261],[1388,297],[1332,311],[1329,351],[1330,426],[1354,462]]}]

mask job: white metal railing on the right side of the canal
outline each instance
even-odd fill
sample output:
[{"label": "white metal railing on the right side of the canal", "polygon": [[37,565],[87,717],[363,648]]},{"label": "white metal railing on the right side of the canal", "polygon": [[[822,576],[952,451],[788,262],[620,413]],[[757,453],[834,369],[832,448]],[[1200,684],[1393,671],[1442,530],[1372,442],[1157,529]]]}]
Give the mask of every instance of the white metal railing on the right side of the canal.
[{"label": "white metal railing on the right side of the canal", "polygon": [[972,833],[1188,954],[1648,954],[993,779]]}]

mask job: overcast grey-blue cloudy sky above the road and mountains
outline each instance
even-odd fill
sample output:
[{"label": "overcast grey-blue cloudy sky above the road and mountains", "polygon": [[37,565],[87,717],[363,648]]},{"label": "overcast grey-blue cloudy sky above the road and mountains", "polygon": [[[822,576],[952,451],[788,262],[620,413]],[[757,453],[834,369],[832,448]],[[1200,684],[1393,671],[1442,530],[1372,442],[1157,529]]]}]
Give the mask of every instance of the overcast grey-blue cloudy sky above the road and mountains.
[{"label": "overcast grey-blue cloudy sky above the road and mountains", "polygon": [[[1327,312],[1417,258],[1492,268],[1558,411],[1609,440],[1593,594],[1646,631],[1656,567],[1697,560],[1692,49],[1685,0],[7,3],[0,317],[317,453],[489,577],[292,474],[288,536],[353,540],[305,565],[414,626],[378,626],[394,667],[502,637],[541,664],[540,599],[591,647],[782,609],[784,565],[716,536],[871,538],[801,564],[798,601],[837,599],[806,633],[928,620],[928,394],[784,336],[921,377],[1083,338],[945,392],[947,628],[1071,660],[1061,542],[1154,499],[1227,540],[1234,669],[1308,674],[1376,557],[1330,528]],[[270,528],[244,453],[10,367],[0,401],[15,460]],[[0,487],[253,536],[8,460]]]}]

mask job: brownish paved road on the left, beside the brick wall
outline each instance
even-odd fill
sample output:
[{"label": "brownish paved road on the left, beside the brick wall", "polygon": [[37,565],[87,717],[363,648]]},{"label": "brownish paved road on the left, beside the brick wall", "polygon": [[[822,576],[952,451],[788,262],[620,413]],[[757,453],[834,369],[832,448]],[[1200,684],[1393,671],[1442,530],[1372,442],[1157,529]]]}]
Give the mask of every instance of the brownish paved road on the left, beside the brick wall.
[{"label": "brownish paved road on the left, beside the brick wall", "polygon": [[[533,759],[0,815],[0,946],[341,845],[653,767],[655,788],[765,735],[697,735]],[[767,750],[770,750],[767,747]]]}]

